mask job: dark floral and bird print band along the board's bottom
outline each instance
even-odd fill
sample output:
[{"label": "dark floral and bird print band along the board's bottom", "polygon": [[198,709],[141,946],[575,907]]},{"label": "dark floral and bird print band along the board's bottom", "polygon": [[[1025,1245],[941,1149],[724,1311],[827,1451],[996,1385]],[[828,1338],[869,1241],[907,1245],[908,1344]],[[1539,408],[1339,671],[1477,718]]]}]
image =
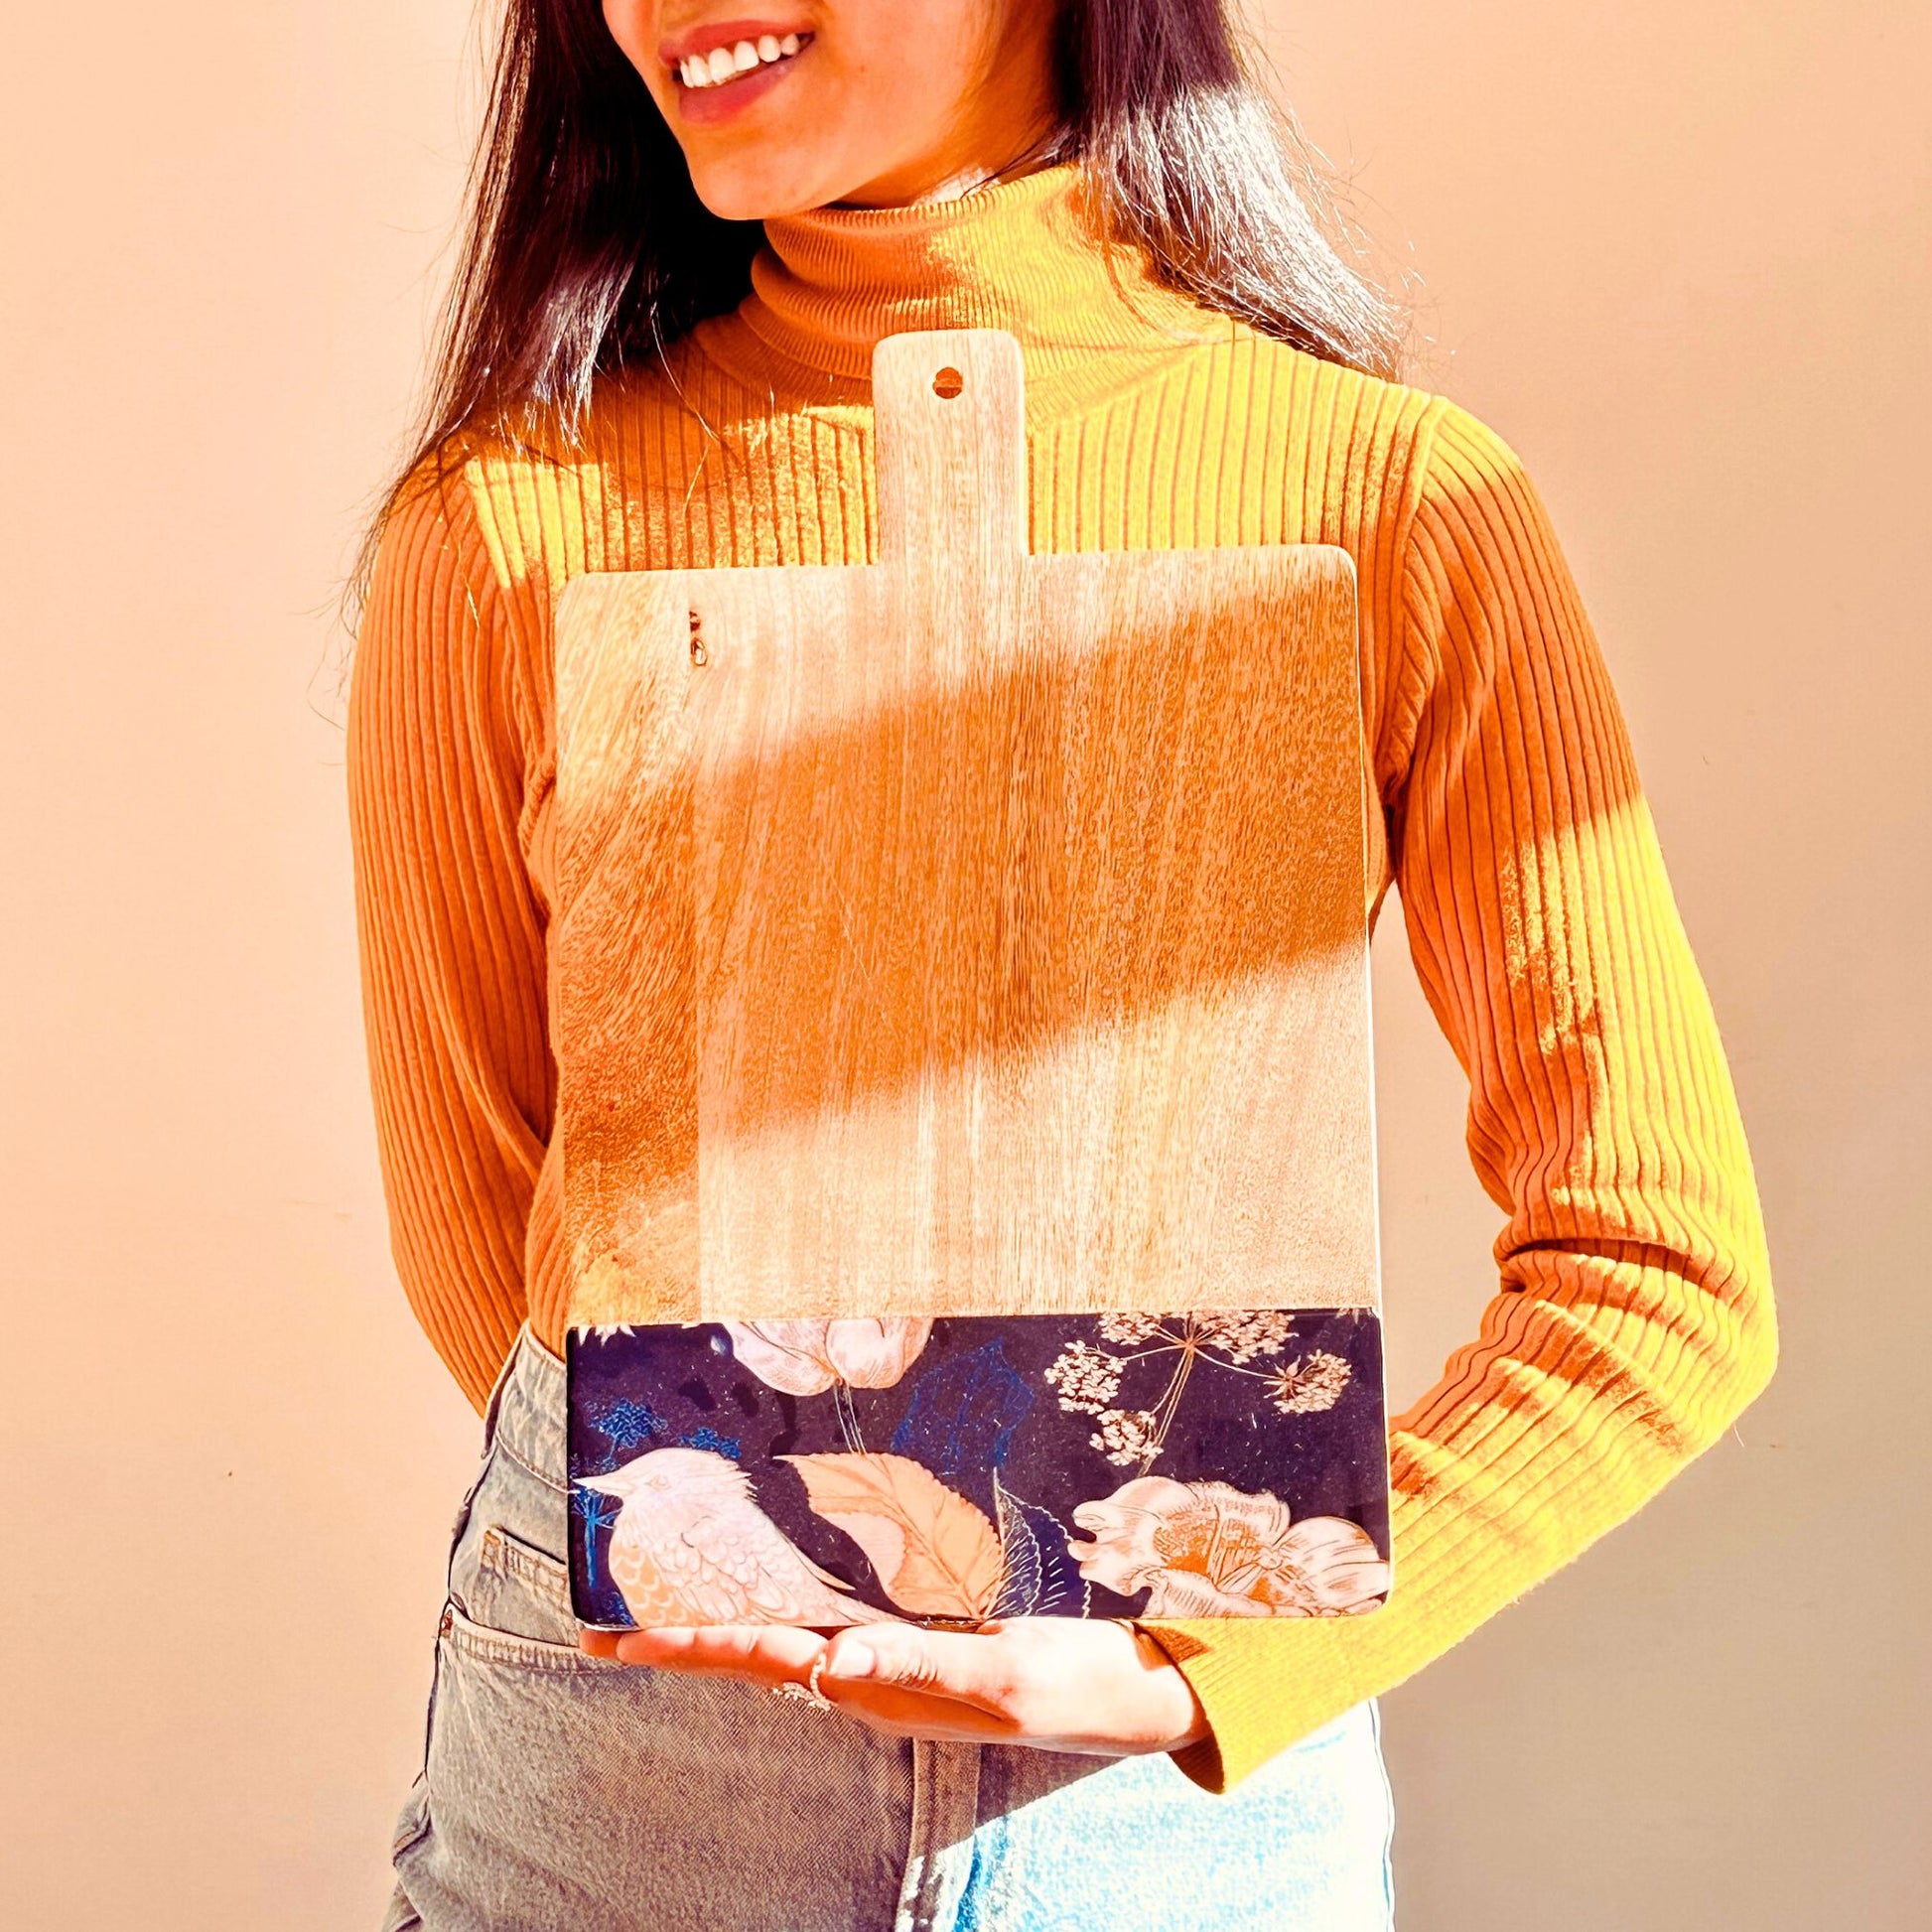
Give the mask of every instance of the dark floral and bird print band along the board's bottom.
[{"label": "dark floral and bird print band along the board's bottom", "polygon": [[1356,1615],[1370,1310],[574,1329],[582,1621]]}]

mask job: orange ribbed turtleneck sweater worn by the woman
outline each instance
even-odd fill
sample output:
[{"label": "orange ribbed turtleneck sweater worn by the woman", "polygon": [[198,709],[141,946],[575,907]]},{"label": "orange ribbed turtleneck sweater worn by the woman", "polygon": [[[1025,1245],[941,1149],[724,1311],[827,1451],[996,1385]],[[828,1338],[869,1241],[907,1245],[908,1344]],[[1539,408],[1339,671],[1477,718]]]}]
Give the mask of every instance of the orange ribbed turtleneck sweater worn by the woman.
[{"label": "orange ribbed turtleneck sweater worn by the woman", "polygon": [[582,570],[875,558],[867,373],[896,330],[1026,363],[1036,551],[1337,543],[1428,1001],[1505,1213],[1499,1293],[1391,1420],[1366,1617],[1163,1623],[1209,1791],[1439,1656],[1708,1447],[1777,1343],[1750,1155],[1615,696],[1515,454],[1105,249],[1068,162],[765,224],[753,292],[601,386],[574,448],[477,439],[388,518],[348,715],[363,997],[396,1265],[481,1406],[568,1283],[547,1041],[551,593]]}]

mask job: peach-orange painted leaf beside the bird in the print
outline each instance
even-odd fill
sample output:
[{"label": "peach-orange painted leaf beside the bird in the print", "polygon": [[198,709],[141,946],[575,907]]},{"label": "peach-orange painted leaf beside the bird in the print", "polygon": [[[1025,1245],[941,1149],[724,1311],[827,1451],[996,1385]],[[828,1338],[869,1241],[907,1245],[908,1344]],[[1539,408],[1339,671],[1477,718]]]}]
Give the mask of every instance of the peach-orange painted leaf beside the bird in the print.
[{"label": "peach-orange painted leaf beside the bird in the print", "polygon": [[887,1596],[925,1617],[989,1617],[999,1598],[999,1532],[983,1509],[904,1455],[782,1455],[815,1515],[871,1559]]}]

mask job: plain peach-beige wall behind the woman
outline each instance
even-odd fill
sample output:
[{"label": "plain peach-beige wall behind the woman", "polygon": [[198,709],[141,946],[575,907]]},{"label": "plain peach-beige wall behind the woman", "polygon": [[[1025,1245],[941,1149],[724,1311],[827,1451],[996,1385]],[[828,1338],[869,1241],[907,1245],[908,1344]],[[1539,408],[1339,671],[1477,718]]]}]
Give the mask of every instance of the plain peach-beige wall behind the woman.
[{"label": "plain peach-beige wall behind the woman", "polygon": [[[1922,1922],[1924,12],[1271,6],[1596,618],[1785,1356],[1387,1698],[1414,1932]],[[6,166],[0,1918],[373,1926],[475,1418],[388,1264],[330,599],[475,110],[462,0],[25,8]],[[1424,340],[1426,338],[1426,340]],[[1406,1403],[1495,1209],[1378,939]]]}]

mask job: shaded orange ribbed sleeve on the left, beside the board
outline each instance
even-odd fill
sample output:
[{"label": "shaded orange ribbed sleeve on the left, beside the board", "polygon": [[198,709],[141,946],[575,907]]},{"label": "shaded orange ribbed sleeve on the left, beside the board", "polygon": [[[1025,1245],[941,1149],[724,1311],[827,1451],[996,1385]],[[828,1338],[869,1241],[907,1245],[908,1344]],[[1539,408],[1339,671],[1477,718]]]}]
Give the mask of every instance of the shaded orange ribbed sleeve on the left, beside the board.
[{"label": "shaded orange ribbed sleeve on the left, beside the board", "polygon": [[464,485],[423,475],[384,526],[350,680],[348,798],[396,1271],[481,1408],[526,1314],[554,1072],[512,668],[469,526]]}]

